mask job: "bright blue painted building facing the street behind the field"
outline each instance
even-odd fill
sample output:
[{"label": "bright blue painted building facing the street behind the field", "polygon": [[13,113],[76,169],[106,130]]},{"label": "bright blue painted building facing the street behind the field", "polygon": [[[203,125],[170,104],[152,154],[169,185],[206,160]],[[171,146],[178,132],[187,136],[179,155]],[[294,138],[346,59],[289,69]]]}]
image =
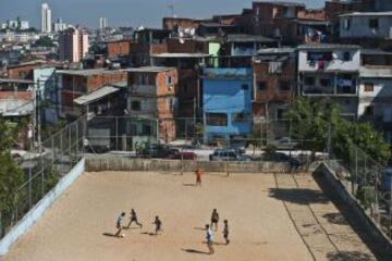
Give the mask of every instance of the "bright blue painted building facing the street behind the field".
[{"label": "bright blue painted building facing the street behind the field", "polygon": [[252,132],[250,69],[206,69],[203,74],[204,139],[246,137]]}]

